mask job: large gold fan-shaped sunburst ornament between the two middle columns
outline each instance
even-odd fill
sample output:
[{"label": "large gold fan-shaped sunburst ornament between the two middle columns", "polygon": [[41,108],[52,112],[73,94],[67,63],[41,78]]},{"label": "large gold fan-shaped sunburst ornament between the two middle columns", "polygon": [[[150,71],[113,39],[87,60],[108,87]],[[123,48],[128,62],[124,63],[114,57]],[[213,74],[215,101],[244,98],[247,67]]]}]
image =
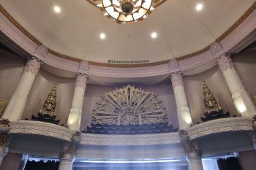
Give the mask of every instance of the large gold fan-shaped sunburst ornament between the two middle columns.
[{"label": "large gold fan-shaped sunburst ornament between the two middle columns", "polygon": [[127,85],[105,93],[93,117],[99,124],[142,125],[165,123],[166,111],[154,93]]}]

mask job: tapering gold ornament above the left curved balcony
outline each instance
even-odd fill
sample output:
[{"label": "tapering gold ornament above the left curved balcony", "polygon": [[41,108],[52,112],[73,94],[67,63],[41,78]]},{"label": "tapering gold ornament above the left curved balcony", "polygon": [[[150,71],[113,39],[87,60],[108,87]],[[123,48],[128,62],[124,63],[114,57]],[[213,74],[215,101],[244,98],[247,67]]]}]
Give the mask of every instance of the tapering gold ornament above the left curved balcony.
[{"label": "tapering gold ornament above the left curved balcony", "polygon": [[56,86],[54,86],[50,90],[48,98],[45,101],[45,104],[42,106],[42,109],[39,110],[40,114],[56,117],[56,89]]}]

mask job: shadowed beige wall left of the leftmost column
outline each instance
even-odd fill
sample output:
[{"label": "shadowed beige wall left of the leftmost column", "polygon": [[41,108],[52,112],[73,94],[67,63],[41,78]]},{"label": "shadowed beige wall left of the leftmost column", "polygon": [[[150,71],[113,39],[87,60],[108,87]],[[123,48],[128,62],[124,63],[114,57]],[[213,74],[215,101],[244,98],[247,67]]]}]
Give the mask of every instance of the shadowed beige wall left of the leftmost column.
[{"label": "shadowed beige wall left of the leftmost column", "polygon": [[0,49],[0,98],[10,100],[25,63],[25,59]]}]

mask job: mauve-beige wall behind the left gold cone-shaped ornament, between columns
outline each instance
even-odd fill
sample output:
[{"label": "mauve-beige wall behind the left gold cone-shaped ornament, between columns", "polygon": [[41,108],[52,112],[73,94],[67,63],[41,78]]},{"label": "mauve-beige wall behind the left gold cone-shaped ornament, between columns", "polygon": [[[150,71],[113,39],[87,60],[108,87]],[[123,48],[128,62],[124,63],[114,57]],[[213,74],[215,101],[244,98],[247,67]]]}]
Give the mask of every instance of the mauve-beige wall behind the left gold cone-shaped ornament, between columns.
[{"label": "mauve-beige wall behind the left gold cone-shaped ornament, between columns", "polygon": [[21,117],[22,120],[25,118],[30,119],[31,115],[37,115],[54,85],[57,86],[56,118],[60,119],[60,124],[67,125],[75,79],[58,77],[42,69],[37,74],[29,93],[29,99]]}]

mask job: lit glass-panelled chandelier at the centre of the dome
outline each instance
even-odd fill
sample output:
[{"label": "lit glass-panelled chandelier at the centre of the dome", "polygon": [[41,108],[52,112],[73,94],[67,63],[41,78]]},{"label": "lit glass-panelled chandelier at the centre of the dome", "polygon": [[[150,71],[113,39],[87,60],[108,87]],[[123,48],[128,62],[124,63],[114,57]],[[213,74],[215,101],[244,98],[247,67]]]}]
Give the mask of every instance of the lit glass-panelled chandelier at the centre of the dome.
[{"label": "lit glass-panelled chandelier at the centre of the dome", "polygon": [[105,16],[117,23],[133,23],[147,18],[151,11],[166,0],[87,0],[99,7]]}]

